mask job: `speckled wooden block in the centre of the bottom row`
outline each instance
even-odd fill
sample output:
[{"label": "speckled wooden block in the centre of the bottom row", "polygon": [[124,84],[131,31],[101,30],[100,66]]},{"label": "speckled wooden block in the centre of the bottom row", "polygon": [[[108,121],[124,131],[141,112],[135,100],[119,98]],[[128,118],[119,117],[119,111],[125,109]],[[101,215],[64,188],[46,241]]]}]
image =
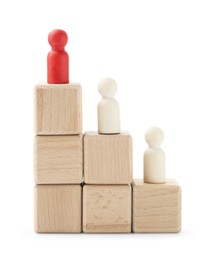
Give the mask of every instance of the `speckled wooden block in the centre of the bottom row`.
[{"label": "speckled wooden block in the centre of the bottom row", "polygon": [[131,232],[131,186],[85,185],[83,232]]}]

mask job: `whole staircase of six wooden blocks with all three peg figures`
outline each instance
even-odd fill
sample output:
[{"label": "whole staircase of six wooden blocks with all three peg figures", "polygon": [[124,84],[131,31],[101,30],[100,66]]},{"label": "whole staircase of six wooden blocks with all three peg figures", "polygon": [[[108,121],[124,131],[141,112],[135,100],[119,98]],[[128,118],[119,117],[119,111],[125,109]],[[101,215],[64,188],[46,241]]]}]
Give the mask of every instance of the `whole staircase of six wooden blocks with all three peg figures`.
[{"label": "whole staircase of six wooden blocks with all three peg figures", "polygon": [[69,83],[67,34],[54,30],[49,43],[48,83],[35,87],[35,231],[179,232],[181,189],[165,178],[162,130],[146,132],[144,179],[133,180],[132,137],[121,132],[116,82],[100,81],[98,131],[82,136],[81,86]]}]

